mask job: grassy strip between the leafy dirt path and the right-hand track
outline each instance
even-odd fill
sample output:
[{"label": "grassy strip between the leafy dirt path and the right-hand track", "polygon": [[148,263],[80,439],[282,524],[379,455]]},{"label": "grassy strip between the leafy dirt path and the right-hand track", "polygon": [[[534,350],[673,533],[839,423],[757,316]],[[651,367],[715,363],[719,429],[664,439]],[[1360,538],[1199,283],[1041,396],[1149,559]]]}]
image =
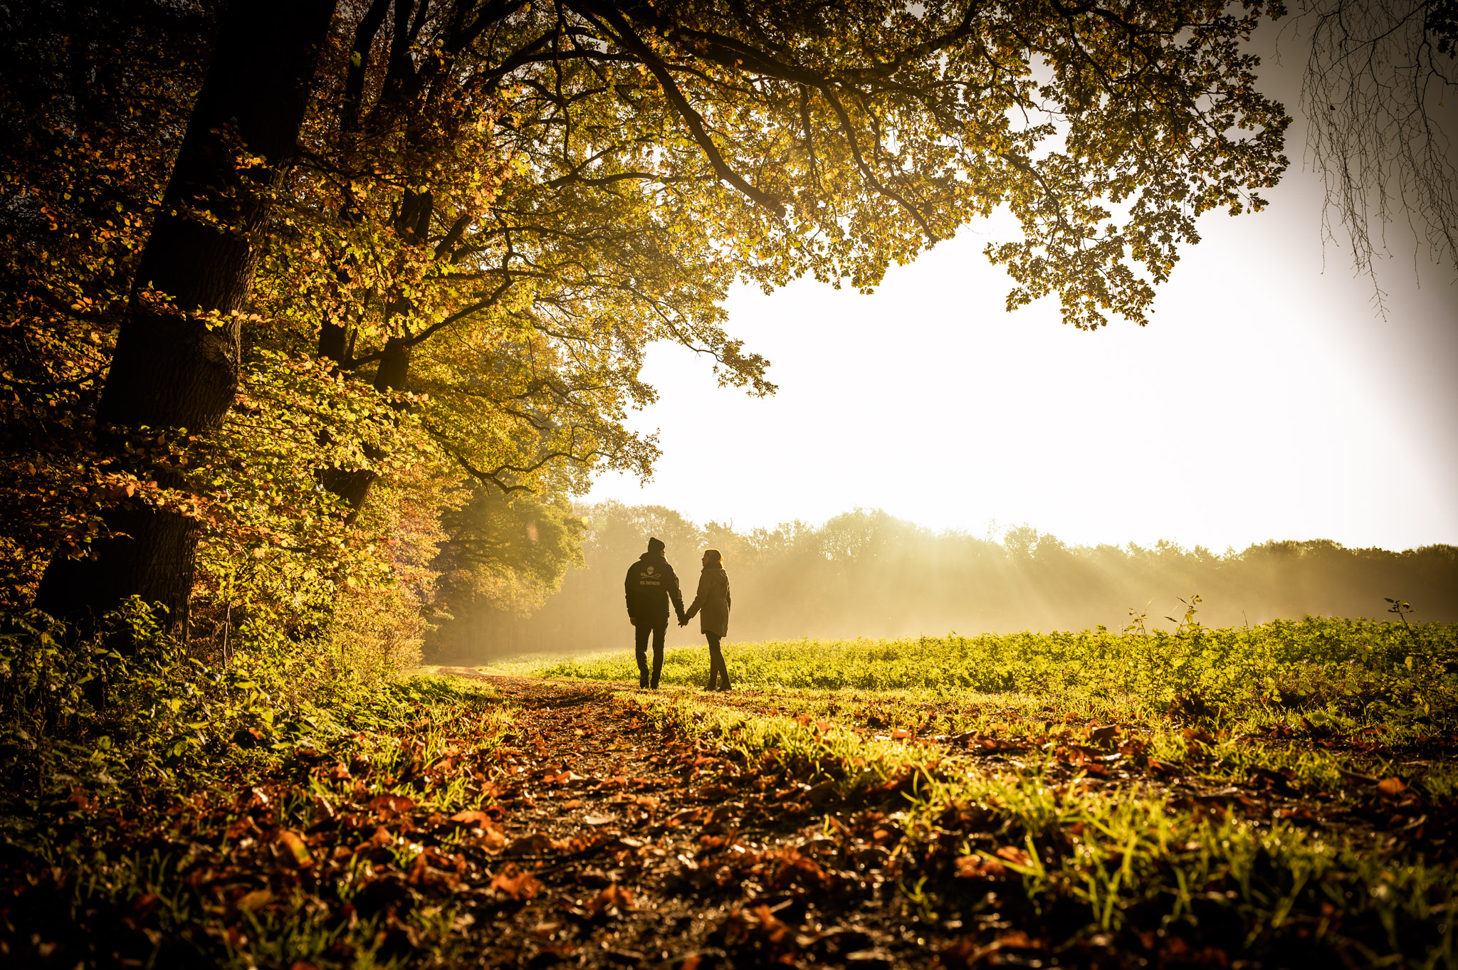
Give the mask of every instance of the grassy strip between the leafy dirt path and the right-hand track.
[{"label": "grassy strip between the leafy dirt path and the right-hand track", "polygon": [[1045,760],[974,763],[914,736],[868,737],[831,714],[760,714],[684,695],[646,706],[665,725],[717,738],[730,760],[776,784],[798,784],[827,832],[857,810],[894,810],[905,832],[900,887],[926,919],[961,919],[983,893],[1016,891],[1070,939],[1105,934],[1137,950],[1153,934],[1196,951],[1215,945],[1220,960],[1229,951],[1282,964],[1306,953],[1458,966],[1458,877],[1407,837],[1212,811],[1153,779],[1050,778]]}]

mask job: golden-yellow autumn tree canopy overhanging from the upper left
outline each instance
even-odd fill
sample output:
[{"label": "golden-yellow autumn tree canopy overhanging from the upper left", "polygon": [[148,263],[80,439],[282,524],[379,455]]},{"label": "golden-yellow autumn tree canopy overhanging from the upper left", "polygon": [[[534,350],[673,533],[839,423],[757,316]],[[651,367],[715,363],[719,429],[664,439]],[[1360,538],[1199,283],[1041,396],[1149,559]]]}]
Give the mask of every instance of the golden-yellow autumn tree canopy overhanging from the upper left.
[{"label": "golden-yellow autumn tree canopy overhanging from the upper left", "polygon": [[[726,329],[736,280],[869,290],[1006,208],[1022,236],[987,255],[1009,307],[1056,296],[1079,328],[1143,323],[1196,218],[1260,208],[1286,165],[1286,117],[1245,48],[1273,4],[341,6],[251,237],[239,403],[216,430],[153,428],[152,465],[117,465],[87,387],[152,284],[131,272],[168,178],[156,159],[216,17],[172,58],[128,39],[165,4],[139,0],[111,15],[131,33],[86,44],[48,10],[7,15],[35,70],[3,92],[26,133],[6,149],[7,272],[31,267],[6,322],[6,488],[48,510],[6,527],[9,587],[23,599],[48,556],[87,555],[108,508],[166,505],[201,523],[203,615],[251,597],[292,635],[363,590],[429,603],[440,516],[478,488],[551,504],[604,469],[647,475],[656,443],[624,419],[655,396],[655,341],[773,392]],[[98,100],[98,71],[125,93]],[[47,127],[45,98],[74,121]],[[51,162],[89,138],[95,163]],[[111,211],[120,242],[95,230]]]}]

